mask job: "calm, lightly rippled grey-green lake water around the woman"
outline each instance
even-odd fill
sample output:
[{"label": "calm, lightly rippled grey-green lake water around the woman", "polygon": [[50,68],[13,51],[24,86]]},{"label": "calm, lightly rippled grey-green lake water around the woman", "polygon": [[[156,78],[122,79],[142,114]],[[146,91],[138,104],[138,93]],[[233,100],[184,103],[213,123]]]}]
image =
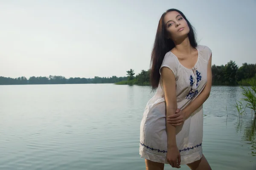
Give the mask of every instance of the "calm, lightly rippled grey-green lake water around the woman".
[{"label": "calm, lightly rippled grey-green lake water around the woman", "polygon": [[[0,170],[144,170],[140,121],[150,92],[113,84],[0,86]],[[239,87],[213,86],[204,104],[203,153],[213,170],[256,170],[255,122],[250,112],[236,117],[240,98]]]}]

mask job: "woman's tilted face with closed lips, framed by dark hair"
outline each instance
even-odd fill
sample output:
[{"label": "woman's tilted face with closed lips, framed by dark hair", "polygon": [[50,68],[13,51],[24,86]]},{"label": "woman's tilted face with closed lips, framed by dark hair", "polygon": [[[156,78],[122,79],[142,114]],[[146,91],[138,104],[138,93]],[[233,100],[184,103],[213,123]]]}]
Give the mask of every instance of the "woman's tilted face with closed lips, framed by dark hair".
[{"label": "woman's tilted face with closed lips, framed by dark hair", "polygon": [[168,12],[163,18],[164,27],[168,38],[173,41],[186,37],[189,34],[189,26],[186,20],[177,11]]}]

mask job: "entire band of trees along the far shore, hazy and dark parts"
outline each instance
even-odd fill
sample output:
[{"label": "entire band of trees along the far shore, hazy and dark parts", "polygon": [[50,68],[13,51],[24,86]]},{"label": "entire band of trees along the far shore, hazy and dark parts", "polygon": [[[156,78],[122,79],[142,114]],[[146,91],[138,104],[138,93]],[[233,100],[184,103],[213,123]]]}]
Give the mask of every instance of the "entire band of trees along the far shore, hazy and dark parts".
[{"label": "entire band of trees along the far shore, hazy and dark parts", "polygon": [[[38,85],[38,84],[98,84],[115,83],[117,85],[150,85],[150,71],[142,70],[135,76],[134,70],[130,69],[127,77],[94,77],[80,78],[63,76],[49,77],[0,77],[0,85]],[[212,85],[247,85],[250,79],[256,80],[256,64],[243,63],[238,67],[236,62],[230,60],[226,65],[212,65]]]}]

